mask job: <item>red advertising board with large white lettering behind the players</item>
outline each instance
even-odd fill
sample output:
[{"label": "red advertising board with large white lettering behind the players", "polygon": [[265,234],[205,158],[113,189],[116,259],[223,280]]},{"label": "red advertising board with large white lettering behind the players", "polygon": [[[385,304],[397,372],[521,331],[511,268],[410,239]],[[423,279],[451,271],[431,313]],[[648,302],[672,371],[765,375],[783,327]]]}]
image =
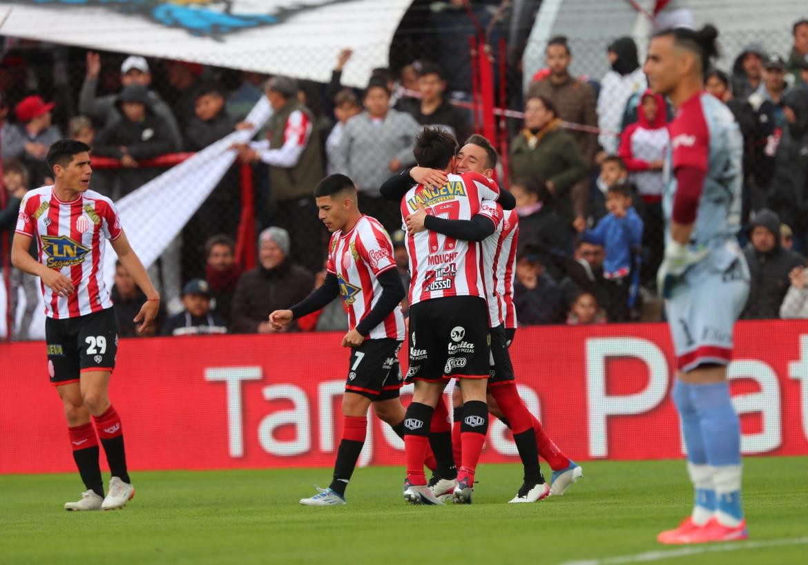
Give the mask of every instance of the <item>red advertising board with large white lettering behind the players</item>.
[{"label": "red advertising board with large white lettering behind the players", "polygon": [[[347,373],[340,337],[121,339],[111,394],[130,466],[331,466]],[[808,454],[808,323],[742,322],[735,341],[743,453]],[[570,457],[682,457],[664,324],[524,328],[511,352],[528,407]],[[44,344],[0,344],[0,358],[0,473],[74,470]],[[411,387],[402,392],[408,402]],[[403,465],[403,442],[375,416],[368,426],[360,464]],[[494,421],[482,462],[518,461]]]}]

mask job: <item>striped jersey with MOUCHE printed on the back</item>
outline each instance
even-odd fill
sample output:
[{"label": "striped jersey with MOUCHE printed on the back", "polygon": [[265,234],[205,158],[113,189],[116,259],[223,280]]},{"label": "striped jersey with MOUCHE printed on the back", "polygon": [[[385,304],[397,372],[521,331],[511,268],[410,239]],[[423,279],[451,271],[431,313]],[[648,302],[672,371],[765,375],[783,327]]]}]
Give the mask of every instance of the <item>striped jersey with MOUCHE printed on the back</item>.
[{"label": "striped jersey with MOUCHE printed on the back", "polygon": [[[402,199],[402,218],[415,212],[419,204],[427,213],[449,220],[470,220],[480,210],[482,200],[496,200],[499,187],[479,173],[448,175],[440,188],[420,184],[410,188]],[[406,230],[406,223],[404,224]],[[406,234],[410,256],[410,306],[432,298],[452,296],[486,297],[479,242],[449,238],[431,230]]]}]

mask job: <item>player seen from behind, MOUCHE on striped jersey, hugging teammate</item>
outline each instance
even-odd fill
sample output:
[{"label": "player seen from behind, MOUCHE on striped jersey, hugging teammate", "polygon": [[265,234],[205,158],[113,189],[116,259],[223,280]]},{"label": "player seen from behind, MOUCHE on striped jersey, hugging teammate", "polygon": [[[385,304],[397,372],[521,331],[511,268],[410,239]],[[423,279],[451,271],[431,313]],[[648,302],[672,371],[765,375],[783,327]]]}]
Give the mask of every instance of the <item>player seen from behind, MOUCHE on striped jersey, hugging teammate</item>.
[{"label": "player seen from behind, MOUCHE on striped jersey, hugging teammate", "polygon": [[[415,140],[415,158],[420,167],[453,171],[457,141],[440,129],[423,129]],[[510,196],[510,195],[508,195]],[[483,200],[500,197],[496,183],[478,173],[448,175],[438,188],[416,184],[401,200],[402,219],[420,208],[450,219],[470,220]],[[511,197],[512,200],[512,197]],[[512,207],[512,201],[511,206]],[[404,498],[410,504],[443,504],[427,486],[423,457],[427,450],[431,420],[448,419],[441,394],[446,382],[461,379],[464,418],[461,429],[463,457],[453,489],[456,503],[469,504],[474,473],[488,430],[486,382],[490,356],[488,308],[478,242],[446,237],[431,231],[406,234],[410,257],[410,369],[407,380],[415,382],[412,403],[407,407],[406,480]],[[448,442],[451,452],[451,441]],[[438,462],[443,449],[435,449]],[[451,455],[451,453],[449,453]],[[441,475],[442,479],[452,479]]]}]

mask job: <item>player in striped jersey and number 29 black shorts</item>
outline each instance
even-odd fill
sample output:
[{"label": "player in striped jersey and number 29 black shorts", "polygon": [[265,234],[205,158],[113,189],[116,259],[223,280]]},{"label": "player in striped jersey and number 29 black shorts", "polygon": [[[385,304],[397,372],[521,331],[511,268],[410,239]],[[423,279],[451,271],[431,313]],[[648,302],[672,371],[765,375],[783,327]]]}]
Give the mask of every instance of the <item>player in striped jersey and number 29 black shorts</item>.
[{"label": "player in striped jersey and number 29 black shorts", "polygon": [[[102,238],[110,240],[120,264],[145,293],[134,318],[142,322],[138,333],[154,321],[160,296],[129,246],[115,204],[89,190],[90,145],[57,141],[46,160],[54,183],[28,192],[20,203],[11,261],[42,281],[48,374],[64,405],[73,458],[87,488],[81,500],[65,504],[65,509],[124,508],[135,488],[126,467],[120,416],[107,394],[118,351],[118,319],[103,282]],[[32,238],[39,260],[28,255]],[[106,497],[99,438],[112,471]]]}]

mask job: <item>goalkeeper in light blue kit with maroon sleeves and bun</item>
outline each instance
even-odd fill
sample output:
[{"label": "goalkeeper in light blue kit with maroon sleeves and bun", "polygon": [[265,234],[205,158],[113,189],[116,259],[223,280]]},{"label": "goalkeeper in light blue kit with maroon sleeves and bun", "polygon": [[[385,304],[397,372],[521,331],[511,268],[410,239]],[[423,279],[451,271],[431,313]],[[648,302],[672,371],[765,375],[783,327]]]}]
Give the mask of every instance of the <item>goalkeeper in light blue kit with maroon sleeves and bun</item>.
[{"label": "goalkeeper in light blue kit with maroon sleeves and bun", "polygon": [[735,241],[743,140],[730,110],[704,91],[717,36],[709,25],[697,32],[659,32],[645,64],[651,89],[676,108],[663,193],[665,254],[657,282],[666,298],[677,362],[671,395],[696,491],[691,515],[660,533],[663,543],[747,538],[739,419],[726,371],[733,325],[749,293],[749,269]]}]

